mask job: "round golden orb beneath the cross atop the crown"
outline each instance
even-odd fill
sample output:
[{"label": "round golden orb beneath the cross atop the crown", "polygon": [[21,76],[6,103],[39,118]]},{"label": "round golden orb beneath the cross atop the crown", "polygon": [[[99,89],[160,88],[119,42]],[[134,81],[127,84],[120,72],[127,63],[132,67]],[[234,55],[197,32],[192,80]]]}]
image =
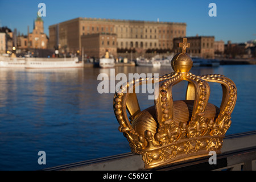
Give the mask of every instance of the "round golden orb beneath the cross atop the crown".
[{"label": "round golden orb beneath the cross atop the crown", "polygon": [[172,69],[175,72],[189,72],[193,66],[193,61],[188,53],[177,53],[171,61]]}]

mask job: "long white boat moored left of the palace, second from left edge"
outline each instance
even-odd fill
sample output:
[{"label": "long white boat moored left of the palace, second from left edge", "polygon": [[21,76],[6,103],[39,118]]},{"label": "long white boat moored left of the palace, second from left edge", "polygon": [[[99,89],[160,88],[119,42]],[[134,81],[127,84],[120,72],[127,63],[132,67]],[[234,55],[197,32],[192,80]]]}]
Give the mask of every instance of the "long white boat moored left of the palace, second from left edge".
[{"label": "long white boat moored left of the palace, second from left edge", "polygon": [[77,57],[40,58],[26,57],[25,68],[83,68],[84,63]]}]

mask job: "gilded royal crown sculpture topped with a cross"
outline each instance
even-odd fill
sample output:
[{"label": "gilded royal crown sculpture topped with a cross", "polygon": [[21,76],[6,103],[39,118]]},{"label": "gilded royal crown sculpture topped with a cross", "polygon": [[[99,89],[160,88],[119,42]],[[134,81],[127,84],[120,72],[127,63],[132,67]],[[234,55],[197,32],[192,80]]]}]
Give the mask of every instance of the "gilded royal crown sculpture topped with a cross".
[{"label": "gilded royal crown sculpture topped with a cross", "polygon": [[[119,131],[127,138],[131,152],[142,155],[145,168],[207,156],[209,151],[220,154],[223,138],[231,124],[230,115],[237,100],[234,82],[223,75],[189,73],[193,61],[186,53],[190,47],[186,38],[179,47],[180,53],[171,61],[174,72],[158,78],[127,81],[114,95]],[[159,83],[155,89],[158,97],[153,106],[141,111],[136,93],[128,91],[146,84],[149,79]],[[174,101],[172,86],[182,80],[188,81],[185,100]],[[220,107],[208,102],[208,82],[222,86]]]}]

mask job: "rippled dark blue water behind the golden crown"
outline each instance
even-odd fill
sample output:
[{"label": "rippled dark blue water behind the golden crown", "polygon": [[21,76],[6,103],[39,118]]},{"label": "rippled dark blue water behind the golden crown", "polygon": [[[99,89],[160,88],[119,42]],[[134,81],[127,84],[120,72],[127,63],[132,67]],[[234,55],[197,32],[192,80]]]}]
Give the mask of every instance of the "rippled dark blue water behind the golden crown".
[{"label": "rippled dark blue water behind the golden crown", "polygon": [[[116,67],[117,73],[159,73],[168,68]],[[195,75],[219,73],[237,85],[238,98],[227,134],[256,130],[255,65],[192,68]],[[109,69],[0,69],[0,170],[37,170],[130,152],[118,131],[113,93],[99,94],[99,73]],[[115,84],[119,82],[116,81]],[[183,100],[185,81],[174,86]],[[210,102],[221,103],[221,86],[210,84]],[[141,109],[154,105],[138,94]],[[46,165],[38,152],[46,152]]]}]

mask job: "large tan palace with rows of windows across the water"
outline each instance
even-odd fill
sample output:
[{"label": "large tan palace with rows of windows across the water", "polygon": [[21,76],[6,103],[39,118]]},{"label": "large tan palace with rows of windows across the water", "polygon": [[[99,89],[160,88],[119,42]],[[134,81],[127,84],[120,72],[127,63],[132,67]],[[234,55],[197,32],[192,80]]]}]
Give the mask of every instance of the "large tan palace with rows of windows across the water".
[{"label": "large tan palace with rows of windows across the water", "polygon": [[[101,57],[133,50],[172,50],[173,39],[186,35],[185,23],[76,18],[49,26],[49,48]],[[96,53],[97,52],[97,53]]]}]

